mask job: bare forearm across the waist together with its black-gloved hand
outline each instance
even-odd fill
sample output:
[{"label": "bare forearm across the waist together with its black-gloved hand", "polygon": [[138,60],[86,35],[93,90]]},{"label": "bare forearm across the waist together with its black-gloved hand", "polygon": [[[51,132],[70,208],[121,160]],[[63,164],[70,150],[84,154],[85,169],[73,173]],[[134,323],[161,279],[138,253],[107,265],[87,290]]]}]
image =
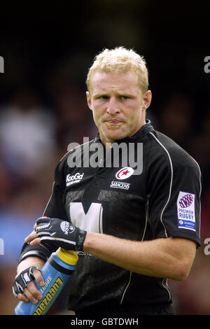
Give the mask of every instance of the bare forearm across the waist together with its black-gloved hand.
[{"label": "bare forearm across the waist together with its black-gloved hand", "polygon": [[[195,258],[196,244],[190,239],[168,237],[151,241],[131,241],[95,232],[86,232],[87,234],[84,235],[81,233],[84,231],[76,227],[69,235],[64,236],[60,223],[62,220],[58,218],[40,218],[40,220],[41,223],[38,223],[37,228],[41,238],[36,234],[36,228],[36,231],[31,232],[25,239],[31,246],[40,244],[46,239],[48,243],[50,241],[62,248],[76,250],[76,244],[78,247],[78,241],[82,241],[83,250],[94,257],[147,276],[167,277],[179,281],[186,279]],[[49,232],[45,233],[45,231]],[[48,240],[49,233],[50,240]]]}]

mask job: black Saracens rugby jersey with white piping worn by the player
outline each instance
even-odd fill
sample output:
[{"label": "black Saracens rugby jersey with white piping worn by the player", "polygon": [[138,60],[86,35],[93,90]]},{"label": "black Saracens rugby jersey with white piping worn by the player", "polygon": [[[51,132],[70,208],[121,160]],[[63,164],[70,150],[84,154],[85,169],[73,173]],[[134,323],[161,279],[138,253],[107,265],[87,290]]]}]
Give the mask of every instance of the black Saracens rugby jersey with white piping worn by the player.
[{"label": "black Saracens rugby jersey with white piping worn by the player", "polygon": [[[97,146],[102,146],[99,135],[66,153],[55,169],[52,195],[43,215],[123,239],[183,237],[200,246],[197,162],[172,139],[155,131],[148,120],[134,136],[115,143],[123,147],[110,151],[110,161],[104,148],[96,153]],[[139,164],[136,171],[129,162],[132,157]],[[97,166],[88,165],[88,159]],[[20,259],[33,250],[45,253],[41,246],[24,245]],[[68,305],[78,314],[89,310],[94,314],[120,309],[138,312],[147,305],[172,302],[167,278],[130,272],[89,253],[78,255]]]}]

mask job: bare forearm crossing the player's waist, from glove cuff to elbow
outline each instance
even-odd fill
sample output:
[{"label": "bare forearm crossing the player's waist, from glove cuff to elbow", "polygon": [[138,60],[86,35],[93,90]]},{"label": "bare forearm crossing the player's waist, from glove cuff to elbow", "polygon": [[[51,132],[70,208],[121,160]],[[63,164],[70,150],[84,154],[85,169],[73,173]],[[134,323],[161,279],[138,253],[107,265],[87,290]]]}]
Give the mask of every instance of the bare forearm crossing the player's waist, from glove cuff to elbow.
[{"label": "bare forearm crossing the player's waist, from glove cuff to elbow", "polygon": [[[185,251],[187,257],[183,258],[183,253],[179,251],[186,241],[190,247],[189,251]],[[130,241],[87,232],[84,251],[132,272],[183,280],[186,279],[193,264],[194,245],[193,241],[179,238]]]}]

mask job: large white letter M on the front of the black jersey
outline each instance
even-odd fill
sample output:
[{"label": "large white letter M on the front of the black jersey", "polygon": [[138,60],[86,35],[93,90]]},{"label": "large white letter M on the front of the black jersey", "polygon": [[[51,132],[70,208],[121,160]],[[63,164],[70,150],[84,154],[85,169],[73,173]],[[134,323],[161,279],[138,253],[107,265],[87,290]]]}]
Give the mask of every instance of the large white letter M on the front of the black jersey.
[{"label": "large white letter M on the front of the black jersey", "polygon": [[82,202],[70,202],[71,223],[87,232],[103,233],[103,208],[100,203],[92,203],[85,214]]}]

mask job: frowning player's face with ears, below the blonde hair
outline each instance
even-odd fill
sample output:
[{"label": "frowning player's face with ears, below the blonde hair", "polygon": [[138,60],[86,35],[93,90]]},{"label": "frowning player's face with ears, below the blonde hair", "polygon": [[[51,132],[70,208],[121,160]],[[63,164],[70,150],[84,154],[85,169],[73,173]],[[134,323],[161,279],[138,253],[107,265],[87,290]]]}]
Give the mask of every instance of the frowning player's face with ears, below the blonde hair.
[{"label": "frowning player's face with ears, below the blonde hair", "polygon": [[142,95],[137,74],[96,72],[87,104],[104,144],[135,134],[145,124],[151,91]]}]

